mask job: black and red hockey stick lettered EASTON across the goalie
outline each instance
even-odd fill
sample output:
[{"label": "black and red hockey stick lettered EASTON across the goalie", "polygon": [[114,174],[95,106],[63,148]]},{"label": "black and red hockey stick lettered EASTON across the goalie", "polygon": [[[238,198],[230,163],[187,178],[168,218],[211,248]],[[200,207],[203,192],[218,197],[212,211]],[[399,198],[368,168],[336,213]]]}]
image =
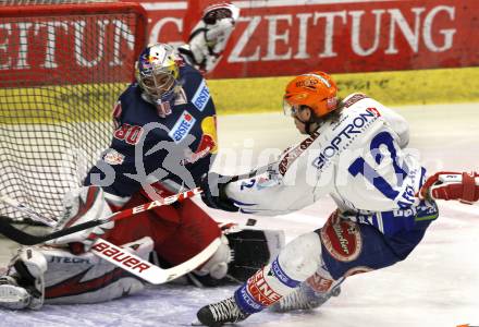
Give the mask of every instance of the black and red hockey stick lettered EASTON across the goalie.
[{"label": "black and red hockey stick lettered EASTON across the goalie", "polygon": [[[193,189],[193,190],[188,190],[179,194],[173,194],[167,197],[163,197],[161,199],[157,199],[153,202],[149,202],[146,203],[144,205],[140,206],[136,206],[133,208],[128,208],[128,209],[124,209],[118,213],[114,213],[111,216],[108,216],[106,218],[101,218],[98,220],[91,220],[91,221],[87,221],[87,222],[83,222],[83,223],[78,223],[65,229],[61,229],[48,234],[44,234],[44,235],[33,235],[29,233],[26,233],[15,227],[13,227],[11,219],[4,216],[0,216],[0,233],[3,234],[4,237],[9,238],[12,241],[15,241],[16,243],[20,243],[22,245],[35,245],[35,244],[39,244],[39,243],[45,243],[47,241],[53,240],[53,239],[58,239],[67,234],[72,234],[75,233],[77,231],[81,230],[85,230],[91,227],[96,227],[96,226],[100,226],[103,223],[107,223],[109,221],[114,221],[114,220],[120,220],[126,217],[131,217],[134,216],[136,214],[146,211],[146,210],[150,210],[152,208],[159,207],[159,206],[164,206],[164,205],[169,205],[172,204],[176,201],[180,199],[184,199],[184,198],[188,198],[192,197],[196,194],[201,193],[201,190],[199,187]],[[33,210],[29,207],[26,207],[25,205],[19,203],[17,201],[10,198],[5,195],[2,195],[0,197],[0,201],[5,203],[7,205],[14,207],[23,213],[28,214],[32,219],[44,222],[44,220],[48,220],[47,218],[44,218],[42,216],[38,215],[37,213],[35,213],[35,210]],[[30,214],[34,215],[30,215]],[[41,219],[37,219],[37,217],[41,217]]]}]

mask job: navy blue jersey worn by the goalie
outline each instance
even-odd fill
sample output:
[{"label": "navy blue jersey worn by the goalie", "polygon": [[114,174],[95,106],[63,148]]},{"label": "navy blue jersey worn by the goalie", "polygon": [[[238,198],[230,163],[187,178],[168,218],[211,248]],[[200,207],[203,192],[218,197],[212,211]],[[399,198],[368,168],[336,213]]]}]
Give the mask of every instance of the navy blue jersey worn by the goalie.
[{"label": "navy blue jersey worn by the goalie", "polygon": [[127,87],[114,109],[116,129],[110,148],[85,184],[99,184],[120,197],[157,181],[195,187],[217,153],[216,109],[197,70],[180,66],[180,84],[172,113],[165,118],[136,83]]}]

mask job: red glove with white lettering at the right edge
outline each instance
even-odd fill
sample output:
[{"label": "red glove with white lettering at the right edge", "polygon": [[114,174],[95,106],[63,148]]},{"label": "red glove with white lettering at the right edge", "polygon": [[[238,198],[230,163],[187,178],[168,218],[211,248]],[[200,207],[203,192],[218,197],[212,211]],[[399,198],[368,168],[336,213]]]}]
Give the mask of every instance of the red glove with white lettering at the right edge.
[{"label": "red glove with white lettering at the right edge", "polygon": [[477,172],[437,172],[422,185],[419,198],[457,199],[465,204],[472,204],[479,199],[479,174]]}]

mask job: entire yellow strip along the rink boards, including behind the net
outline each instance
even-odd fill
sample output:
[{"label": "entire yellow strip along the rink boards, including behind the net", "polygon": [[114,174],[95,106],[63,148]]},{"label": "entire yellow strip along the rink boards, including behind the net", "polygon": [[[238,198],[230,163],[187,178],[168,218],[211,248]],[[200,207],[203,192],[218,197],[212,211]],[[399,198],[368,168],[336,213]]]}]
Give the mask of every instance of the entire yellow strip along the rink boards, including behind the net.
[{"label": "entire yellow strip along the rink boards, including behind the net", "polygon": [[[479,101],[479,68],[334,74],[333,77],[340,96],[361,92],[388,106]],[[209,80],[208,85],[219,114],[281,112],[284,87],[291,78]],[[45,123],[54,121],[56,117],[62,122],[108,121],[125,86],[118,83],[0,88],[0,112],[3,111],[0,123]],[[98,108],[98,111],[78,119],[75,111],[82,108]],[[9,110],[15,113],[4,113]]]}]

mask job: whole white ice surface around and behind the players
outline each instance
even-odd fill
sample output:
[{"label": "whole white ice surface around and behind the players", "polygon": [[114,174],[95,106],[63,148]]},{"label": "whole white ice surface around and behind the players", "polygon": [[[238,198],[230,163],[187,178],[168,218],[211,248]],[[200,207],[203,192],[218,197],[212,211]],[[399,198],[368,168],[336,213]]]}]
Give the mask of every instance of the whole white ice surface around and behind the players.
[{"label": "whole white ice surface around and behind the players", "polygon": [[[398,108],[412,125],[410,147],[432,170],[479,169],[479,105]],[[219,165],[241,172],[257,161],[243,159],[265,148],[280,150],[298,140],[281,114],[230,116],[219,119],[220,144],[237,161]],[[275,150],[271,150],[274,153]],[[259,162],[261,164],[261,162]],[[287,239],[319,228],[334,206],[322,199],[297,214],[258,219],[258,227],[286,230]],[[442,203],[441,217],[421,244],[393,267],[349,278],[342,294],[309,313],[251,316],[241,326],[400,327],[479,326],[479,207]],[[246,216],[211,213],[220,220],[245,222]],[[15,245],[1,242],[0,263]],[[0,310],[0,326],[188,326],[196,311],[230,296],[234,288],[150,287],[138,295],[94,305],[45,305],[41,311]]]}]

